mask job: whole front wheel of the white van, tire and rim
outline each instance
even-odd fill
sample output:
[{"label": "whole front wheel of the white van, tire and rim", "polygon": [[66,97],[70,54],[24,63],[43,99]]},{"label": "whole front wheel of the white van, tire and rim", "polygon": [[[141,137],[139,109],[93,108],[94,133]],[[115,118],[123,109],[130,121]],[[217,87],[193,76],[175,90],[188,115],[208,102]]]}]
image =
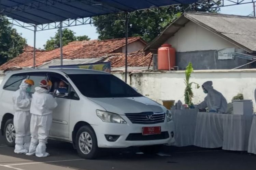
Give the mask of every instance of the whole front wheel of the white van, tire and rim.
[{"label": "whole front wheel of the white van, tire and rim", "polygon": [[95,159],[99,148],[94,130],[89,126],[82,126],[76,133],[76,150],[80,157]]}]

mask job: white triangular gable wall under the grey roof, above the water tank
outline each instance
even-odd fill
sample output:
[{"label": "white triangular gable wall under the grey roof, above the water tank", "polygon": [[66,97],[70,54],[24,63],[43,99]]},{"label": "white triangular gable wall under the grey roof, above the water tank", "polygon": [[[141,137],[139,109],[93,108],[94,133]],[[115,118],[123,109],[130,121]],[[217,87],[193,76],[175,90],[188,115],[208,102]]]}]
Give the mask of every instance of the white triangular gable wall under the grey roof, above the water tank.
[{"label": "white triangular gable wall under the grey roof, above the water tank", "polygon": [[177,52],[238,48],[192,21],[189,21],[165,43],[171,44]]}]

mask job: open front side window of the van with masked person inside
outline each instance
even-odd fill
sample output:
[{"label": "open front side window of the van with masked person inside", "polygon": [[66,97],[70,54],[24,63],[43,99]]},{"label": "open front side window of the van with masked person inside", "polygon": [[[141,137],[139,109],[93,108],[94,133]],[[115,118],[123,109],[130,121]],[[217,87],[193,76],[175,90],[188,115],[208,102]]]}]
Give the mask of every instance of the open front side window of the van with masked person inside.
[{"label": "open front side window of the van with masked person inside", "polygon": [[47,75],[48,80],[53,84],[50,90],[51,94],[58,98],[79,100],[75,90],[63,75],[57,73],[48,73]]}]

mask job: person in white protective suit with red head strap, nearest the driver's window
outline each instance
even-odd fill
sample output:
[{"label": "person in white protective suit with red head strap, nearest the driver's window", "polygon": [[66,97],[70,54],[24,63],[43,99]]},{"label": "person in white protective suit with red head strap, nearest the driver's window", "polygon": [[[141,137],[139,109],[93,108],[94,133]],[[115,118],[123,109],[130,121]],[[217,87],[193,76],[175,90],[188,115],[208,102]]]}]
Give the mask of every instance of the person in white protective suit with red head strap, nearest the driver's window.
[{"label": "person in white protective suit with red head strap, nearest the driver's window", "polygon": [[31,101],[31,144],[26,155],[37,157],[47,157],[46,142],[52,125],[53,109],[57,107],[57,102],[52,95],[48,94],[49,82],[42,80],[40,87],[35,87]]}]

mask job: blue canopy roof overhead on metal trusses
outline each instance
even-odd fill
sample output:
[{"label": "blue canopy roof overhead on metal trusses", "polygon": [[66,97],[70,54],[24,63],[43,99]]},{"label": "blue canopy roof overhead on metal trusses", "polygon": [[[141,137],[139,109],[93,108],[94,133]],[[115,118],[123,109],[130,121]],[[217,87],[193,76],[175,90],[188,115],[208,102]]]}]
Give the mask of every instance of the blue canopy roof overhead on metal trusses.
[{"label": "blue canopy roof overhead on metal trusses", "polygon": [[1,0],[0,12],[32,24],[92,17],[146,8],[190,4],[197,0]]}]

